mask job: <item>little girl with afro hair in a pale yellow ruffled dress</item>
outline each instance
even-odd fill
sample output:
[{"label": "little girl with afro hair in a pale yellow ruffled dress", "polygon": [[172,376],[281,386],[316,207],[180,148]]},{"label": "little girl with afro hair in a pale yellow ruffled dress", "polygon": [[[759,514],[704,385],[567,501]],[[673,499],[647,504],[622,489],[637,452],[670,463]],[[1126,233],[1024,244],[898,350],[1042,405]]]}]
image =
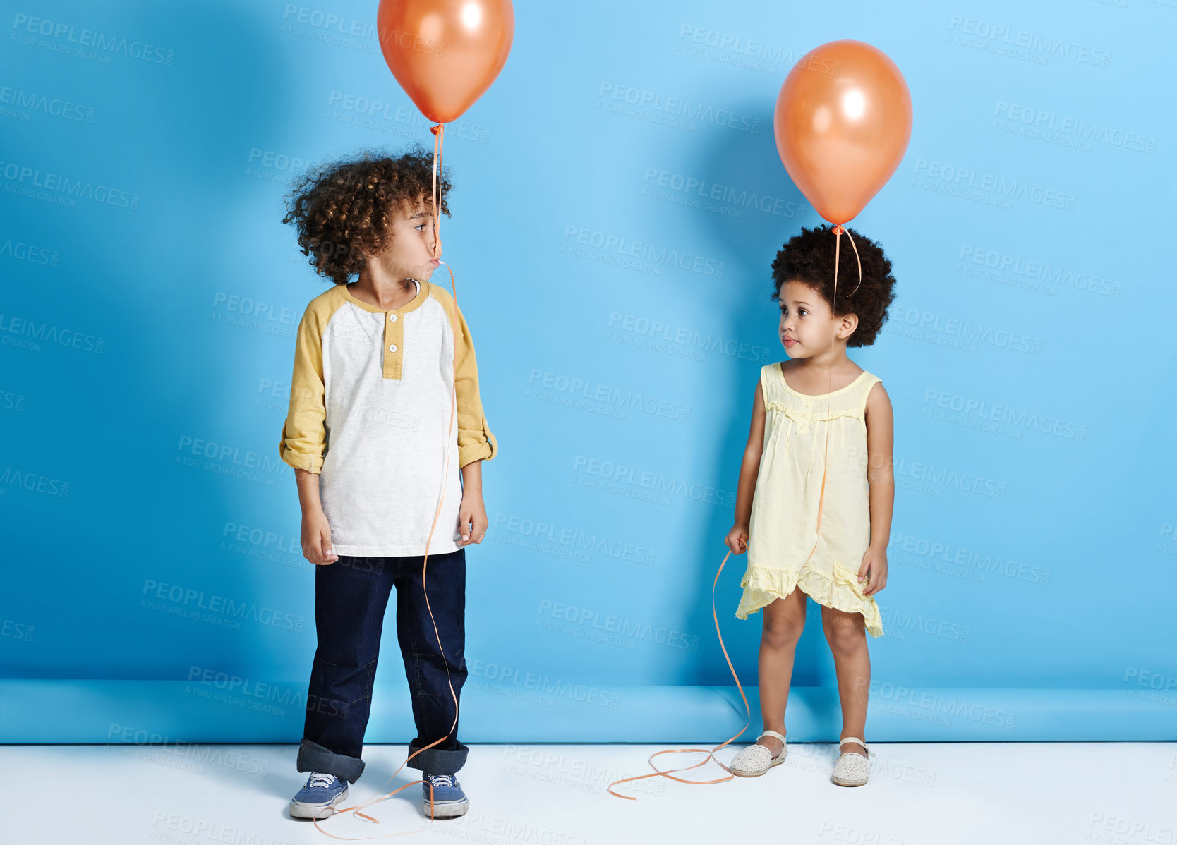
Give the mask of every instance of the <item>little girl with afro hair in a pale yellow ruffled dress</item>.
[{"label": "little girl with afro hair in a pale yellow ruffled dress", "polygon": [[764,611],[764,732],[732,761],[732,772],[745,777],[763,774],[787,753],[785,704],[807,598],[822,606],[842,703],[843,753],[831,780],[859,786],[870,776],[873,752],[862,739],[871,673],[866,634],[883,634],[875,597],[887,575],[893,426],[882,379],[846,350],[878,338],[895,277],[878,244],[849,233],[858,260],[843,253],[849,260],[838,261],[837,279],[837,231],[824,225],[802,228],[772,262],[771,299],[780,306],[786,360],[760,370],[736,524],[725,539],[733,553],[749,555],[737,618]]}]

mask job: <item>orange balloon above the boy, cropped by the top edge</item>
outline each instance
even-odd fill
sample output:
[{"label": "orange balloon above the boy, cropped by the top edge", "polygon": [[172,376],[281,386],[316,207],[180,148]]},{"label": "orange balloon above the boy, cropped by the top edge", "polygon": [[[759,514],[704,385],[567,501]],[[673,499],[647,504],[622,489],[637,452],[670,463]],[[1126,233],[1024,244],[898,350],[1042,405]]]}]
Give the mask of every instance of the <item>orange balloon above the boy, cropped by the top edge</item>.
[{"label": "orange balloon above the boy, cropped by the top edge", "polygon": [[486,93],[514,38],[511,0],[380,0],[380,51],[434,124],[457,120]]}]

